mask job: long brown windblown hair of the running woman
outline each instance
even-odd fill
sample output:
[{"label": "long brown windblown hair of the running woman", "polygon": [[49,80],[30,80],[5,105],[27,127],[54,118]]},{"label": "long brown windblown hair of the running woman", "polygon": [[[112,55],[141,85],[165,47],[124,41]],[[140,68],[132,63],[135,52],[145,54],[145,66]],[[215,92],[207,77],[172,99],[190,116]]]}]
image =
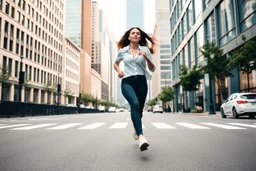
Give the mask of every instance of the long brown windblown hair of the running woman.
[{"label": "long brown windblown hair of the running woman", "polygon": [[[119,42],[117,42],[118,50],[125,47],[125,46],[128,46],[130,44],[130,40],[128,38],[129,38],[129,35],[130,35],[130,32],[132,31],[132,29],[138,29],[140,31],[140,38],[141,39],[139,41],[139,45],[147,46],[149,48],[150,52],[153,54],[155,52],[155,47],[156,47],[155,37],[145,33],[139,27],[132,27],[124,33],[124,35],[121,37]],[[149,47],[148,41],[151,43],[151,47]]]}]

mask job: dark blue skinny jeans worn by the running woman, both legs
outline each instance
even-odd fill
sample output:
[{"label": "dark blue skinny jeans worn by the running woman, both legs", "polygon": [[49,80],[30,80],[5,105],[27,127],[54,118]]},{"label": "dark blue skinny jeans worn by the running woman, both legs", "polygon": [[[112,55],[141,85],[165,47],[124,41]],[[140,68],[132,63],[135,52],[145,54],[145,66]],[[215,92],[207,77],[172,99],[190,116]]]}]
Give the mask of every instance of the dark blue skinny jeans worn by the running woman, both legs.
[{"label": "dark blue skinny jeans worn by the running woman, both legs", "polygon": [[142,112],[148,93],[147,80],[144,75],[136,75],[124,78],[121,83],[122,93],[131,107],[131,119],[136,134],[143,134]]}]

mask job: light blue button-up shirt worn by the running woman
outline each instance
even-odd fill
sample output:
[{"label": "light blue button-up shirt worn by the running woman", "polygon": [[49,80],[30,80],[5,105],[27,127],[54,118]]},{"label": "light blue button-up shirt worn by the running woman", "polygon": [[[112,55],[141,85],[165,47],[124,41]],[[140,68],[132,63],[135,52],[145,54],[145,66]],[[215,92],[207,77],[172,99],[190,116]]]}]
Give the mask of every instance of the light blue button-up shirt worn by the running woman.
[{"label": "light blue button-up shirt worn by the running woman", "polygon": [[[127,78],[133,75],[145,75],[147,80],[151,79],[151,72],[155,71],[155,67],[151,70],[147,67],[147,61],[142,55],[136,55],[133,59],[133,54],[129,51],[129,45],[120,49],[115,62],[124,62],[124,77]],[[146,53],[148,59],[152,60],[152,54],[147,46],[139,46],[138,50]],[[150,72],[151,71],[151,72]]]}]

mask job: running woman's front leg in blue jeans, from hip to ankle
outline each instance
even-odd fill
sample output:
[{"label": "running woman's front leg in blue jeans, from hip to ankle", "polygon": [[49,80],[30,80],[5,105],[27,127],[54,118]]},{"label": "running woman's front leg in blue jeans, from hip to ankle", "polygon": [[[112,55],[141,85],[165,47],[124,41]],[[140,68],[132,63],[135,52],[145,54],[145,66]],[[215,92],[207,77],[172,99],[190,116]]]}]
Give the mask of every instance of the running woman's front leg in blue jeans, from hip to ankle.
[{"label": "running woman's front leg in blue jeans, from hip to ankle", "polygon": [[140,116],[140,102],[136,96],[132,81],[133,80],[122,80],[121,88],[123,96],[131,107],[131,118],[136,130],[136,134],[140,135],[143,134]]}]

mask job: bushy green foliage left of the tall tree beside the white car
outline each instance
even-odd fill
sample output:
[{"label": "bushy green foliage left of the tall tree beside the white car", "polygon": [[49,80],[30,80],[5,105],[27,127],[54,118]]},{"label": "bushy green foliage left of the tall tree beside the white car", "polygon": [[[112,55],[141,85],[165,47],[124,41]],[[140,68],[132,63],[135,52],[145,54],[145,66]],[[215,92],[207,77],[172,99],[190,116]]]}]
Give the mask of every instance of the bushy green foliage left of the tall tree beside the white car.
[{"label": "bushy green foliage left of the tall tree beside the white car", "polygon": [[201,84],[200,80],[204,78],[204,73],[197,65],[194,65],[191,70],[185,65],[181,65],[179,76],[184,91],[196,91]]}]

